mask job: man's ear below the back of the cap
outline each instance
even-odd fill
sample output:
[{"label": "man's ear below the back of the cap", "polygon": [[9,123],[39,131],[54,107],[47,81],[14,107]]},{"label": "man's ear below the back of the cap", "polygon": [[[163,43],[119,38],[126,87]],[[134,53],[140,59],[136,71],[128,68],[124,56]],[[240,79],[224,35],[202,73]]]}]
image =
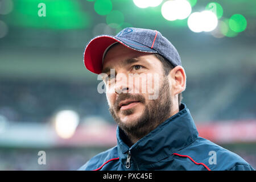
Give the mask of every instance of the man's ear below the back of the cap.
[{"label": "man's ear below the back of the cap", "polygon": [[183,92],[186,88],[186,74],[184,68],[180,65],[174,67],[169,75],[172,81],[172,95]]}]

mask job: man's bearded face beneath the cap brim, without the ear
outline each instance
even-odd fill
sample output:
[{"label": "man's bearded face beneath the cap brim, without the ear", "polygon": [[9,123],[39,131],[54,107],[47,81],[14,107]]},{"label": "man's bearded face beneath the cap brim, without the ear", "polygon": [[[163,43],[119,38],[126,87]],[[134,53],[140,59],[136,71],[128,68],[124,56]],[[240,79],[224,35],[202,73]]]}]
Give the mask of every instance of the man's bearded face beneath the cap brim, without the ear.
[{"label": "man's bearded face beneath the cap brim, without the ear", "polygon": [[115,77],[105,79],[109,110],[126,134],[143,137],[170,117],[170,82],[154,54],[118,44],[106,53],[102,72],[110,75],[110,68]]}]

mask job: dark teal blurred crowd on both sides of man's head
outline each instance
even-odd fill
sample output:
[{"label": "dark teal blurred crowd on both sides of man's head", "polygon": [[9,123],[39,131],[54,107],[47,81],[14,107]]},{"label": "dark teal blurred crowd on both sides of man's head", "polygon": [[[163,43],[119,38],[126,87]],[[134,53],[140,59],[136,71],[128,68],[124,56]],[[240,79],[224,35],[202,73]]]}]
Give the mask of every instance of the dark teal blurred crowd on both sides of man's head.
[{"label": "dark teal blurred crowd on both sides of man's head", "polygon": [[[196,122],[254,119],[255,80],[254,72],[245,78],[230,73],[188,77],[183,102]],[[2,79],[0,115],[14,122],[47,122],[57,110],[73,109],[81,118],[97,115],[113,123],[105,94],[97,92],[99,82]]]}]

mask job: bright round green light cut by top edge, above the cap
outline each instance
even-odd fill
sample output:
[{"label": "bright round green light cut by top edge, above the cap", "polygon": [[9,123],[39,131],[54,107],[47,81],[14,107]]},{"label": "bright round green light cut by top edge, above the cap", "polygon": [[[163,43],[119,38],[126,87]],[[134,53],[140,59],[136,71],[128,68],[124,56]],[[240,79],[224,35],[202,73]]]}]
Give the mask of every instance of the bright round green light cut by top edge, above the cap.
[{"label": "bright round green light cut by top edge, above the cap", "polygon": [[112,2],[110,0],[96,0],[94,10],[99,15],[107,15],[112,10]]}]

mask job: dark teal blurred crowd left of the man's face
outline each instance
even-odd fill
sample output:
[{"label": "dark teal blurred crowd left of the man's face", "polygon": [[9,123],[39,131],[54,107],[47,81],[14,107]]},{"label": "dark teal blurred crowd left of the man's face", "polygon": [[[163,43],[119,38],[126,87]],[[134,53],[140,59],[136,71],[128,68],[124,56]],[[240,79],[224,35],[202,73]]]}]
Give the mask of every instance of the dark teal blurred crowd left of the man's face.
[{"label": "dark teal blurred crowd left of the man's face", "polygon": [[8,121],[47,122],[57,110],[73,109],[81,117],[101,115],[109,121],[104,94],[97,85],[63,81],[0,81],[0,114]]}]

